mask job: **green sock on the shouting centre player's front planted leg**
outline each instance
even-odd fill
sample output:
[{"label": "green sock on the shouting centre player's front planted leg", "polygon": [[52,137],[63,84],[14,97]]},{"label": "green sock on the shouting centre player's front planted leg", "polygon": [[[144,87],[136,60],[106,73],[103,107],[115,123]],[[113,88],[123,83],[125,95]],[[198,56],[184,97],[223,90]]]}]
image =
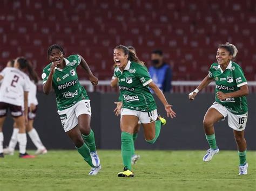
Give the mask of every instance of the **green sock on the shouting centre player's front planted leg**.
[{"label": "green sock on the shouting centre player's front planted leg", "polygon": [[123,164],[126,166],[130,171],[131,167],[131,157],[132,157],[132,135],[127,132],[121,133],[121,147],[122,147],[122,158]]}]

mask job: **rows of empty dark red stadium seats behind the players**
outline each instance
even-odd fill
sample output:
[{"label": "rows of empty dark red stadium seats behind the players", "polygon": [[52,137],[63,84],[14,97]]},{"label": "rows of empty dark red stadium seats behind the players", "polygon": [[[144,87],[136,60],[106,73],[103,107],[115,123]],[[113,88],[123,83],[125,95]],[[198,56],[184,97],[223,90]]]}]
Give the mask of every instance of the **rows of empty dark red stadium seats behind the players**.
[{"label": "rows of empty dark red stadium seats behind the players", "polygon": [[218,44],[229,41],[238,47],[247,80],[256,80],[254,0],[2,0],[0,5],[0,69],[24,55],[40,74],[48,46],[57,43],[66,54],[83,55],[100,80],[109,80],[112,50],[123,44],[136,47],[146,63],[152,49],[161,48],[174,81],[201,80]]}]

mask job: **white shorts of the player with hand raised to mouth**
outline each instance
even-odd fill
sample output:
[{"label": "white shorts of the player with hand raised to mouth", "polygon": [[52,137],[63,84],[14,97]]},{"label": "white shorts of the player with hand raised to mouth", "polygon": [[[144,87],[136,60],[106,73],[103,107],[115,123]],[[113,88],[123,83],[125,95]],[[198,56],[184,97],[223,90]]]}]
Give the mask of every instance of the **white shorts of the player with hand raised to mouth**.
[{"label": "white shorts of the player with hand raised to mouth", "polygon": [[78,116],[87,114],[91,116],[90,100],[82,100],[68,109],[58,110],[60,120],[65,132],[75,128],[78,124]]}]

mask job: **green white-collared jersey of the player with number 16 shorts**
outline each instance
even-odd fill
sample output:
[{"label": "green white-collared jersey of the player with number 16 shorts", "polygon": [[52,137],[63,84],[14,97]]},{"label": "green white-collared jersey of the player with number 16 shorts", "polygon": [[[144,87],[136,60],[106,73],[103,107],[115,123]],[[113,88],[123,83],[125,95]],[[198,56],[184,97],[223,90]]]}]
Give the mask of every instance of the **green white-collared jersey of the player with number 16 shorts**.
[{"label": "green white-collared jersey of the player with number 16 shorts", "polygon": [[209,77],[213,78],[215,86],[215,101],[227,108],[228,111],[236,115],[245,114],[248,110],[247,100],[245,96],[228,97],[226,100],[220,101],[216,93],[222,91],[223,93],[231,93],[239,90],[239,87],[247,84],[242,68],[235,62],[228,64],[223,71],[218,63],[213,63],[209,70]]}]

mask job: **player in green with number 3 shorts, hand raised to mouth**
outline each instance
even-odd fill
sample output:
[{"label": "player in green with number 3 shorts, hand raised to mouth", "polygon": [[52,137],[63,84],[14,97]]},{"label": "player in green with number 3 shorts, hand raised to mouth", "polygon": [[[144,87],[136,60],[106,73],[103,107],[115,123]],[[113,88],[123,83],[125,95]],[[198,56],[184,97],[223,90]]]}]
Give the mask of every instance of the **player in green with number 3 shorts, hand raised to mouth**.
[{"label": "player in green with number 3 shorts, hand raised to mouth", "polygon": [[43,69],[43,91],[49,94],[52,88],[55,90],[63,129],[83,159],[92,167],[89,175],[96,175],[101,166],[96,152],[94,133],[90,126],[90,100],[86,90],[78,81],[77,66],[82,66],[93,86],[98,84],[98,79],[92,74],[82,56],[70,55],[64,58],[65,53],[59,45],[51,45],[47,55],[51,63]]}]

